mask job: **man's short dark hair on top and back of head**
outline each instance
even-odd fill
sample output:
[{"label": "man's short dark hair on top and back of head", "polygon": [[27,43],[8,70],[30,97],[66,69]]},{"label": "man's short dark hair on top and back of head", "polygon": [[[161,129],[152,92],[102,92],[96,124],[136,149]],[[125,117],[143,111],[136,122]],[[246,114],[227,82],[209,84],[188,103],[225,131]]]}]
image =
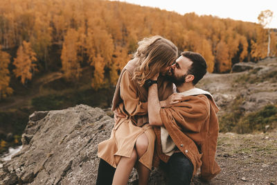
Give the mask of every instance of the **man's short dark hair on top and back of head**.
[{"label": "man's short dark hair on top and back of head", "polygon": [[197,82],[199,82],[199,80],[201,80],[207,72],[206,60],[199,53],[195,53],[192,51],[184,51],[181,53],[181,55],[193,62],[193,64],[191,64],[190,66],[190,69],[188,70],[188,74],[195,76],[195,79],[193,80],[193,85],[196,85]]}]

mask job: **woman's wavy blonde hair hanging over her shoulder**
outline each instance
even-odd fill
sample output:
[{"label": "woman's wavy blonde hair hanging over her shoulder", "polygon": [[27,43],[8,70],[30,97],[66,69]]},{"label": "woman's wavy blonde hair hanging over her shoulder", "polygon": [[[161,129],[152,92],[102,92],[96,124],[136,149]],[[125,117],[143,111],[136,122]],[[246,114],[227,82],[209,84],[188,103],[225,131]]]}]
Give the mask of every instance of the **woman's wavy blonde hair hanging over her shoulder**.
[{"label": "woman's wavy blonde hair hanging over her shoulder", "polygon": [[143,86],[145,80],[176,60],[178,50],[175,44],[159,35],[146,37],[138,44],[139,48],[134,53],[138,67],[134,70],[133,80]]}]

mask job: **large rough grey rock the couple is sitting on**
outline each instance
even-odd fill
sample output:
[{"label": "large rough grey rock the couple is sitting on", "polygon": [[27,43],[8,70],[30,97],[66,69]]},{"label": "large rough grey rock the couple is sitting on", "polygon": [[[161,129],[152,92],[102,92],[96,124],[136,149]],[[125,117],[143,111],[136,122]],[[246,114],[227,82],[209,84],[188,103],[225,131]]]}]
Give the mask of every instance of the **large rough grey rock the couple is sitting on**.
[{"label": "large rough grey rock the couple is sitting on", "polygon": [[[0,166],[0,184],[95,184],[98,143],[109,139],[114,119],[100,108],[77,105],[35,112],[22,135],[23,147]],[[128,184],[137,184],[133,170]],[[159,169],[149,184],[166,184]]]}]

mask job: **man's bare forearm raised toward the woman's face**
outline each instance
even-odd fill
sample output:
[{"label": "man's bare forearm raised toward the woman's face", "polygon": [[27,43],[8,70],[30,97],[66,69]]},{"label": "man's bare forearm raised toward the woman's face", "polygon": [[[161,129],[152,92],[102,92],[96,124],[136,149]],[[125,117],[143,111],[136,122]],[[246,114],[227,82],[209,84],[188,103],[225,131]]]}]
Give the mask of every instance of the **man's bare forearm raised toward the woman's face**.
[{"label": "man's bare forearm raised toward the woman's face", "polygon": [[[159,73],[154,76],[154,79],[157,80]],[[158,85],[153,84],[148,88],[148,119],[150,125],[162,126],[163,122],[161,121],[161,104],[158,97]]]}]

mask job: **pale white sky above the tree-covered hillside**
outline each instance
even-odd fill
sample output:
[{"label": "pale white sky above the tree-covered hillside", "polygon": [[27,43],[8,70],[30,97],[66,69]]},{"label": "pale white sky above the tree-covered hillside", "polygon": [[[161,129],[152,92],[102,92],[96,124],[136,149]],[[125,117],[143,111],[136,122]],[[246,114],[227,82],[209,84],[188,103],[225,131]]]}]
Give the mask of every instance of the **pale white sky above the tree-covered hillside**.
[{"label": "pale white sky above the tree-covered hillside", "polygon": [[[118,0],[116,0],[118,1]],[[197,15],[213,15],[220,18],[251,21],[258,23],[258,15],[263,10],[274,12],[267,28],[277,28],[277,0],[120,0],[141,6],[150,6],[178,12],[184,15],[195,12]]]}]

